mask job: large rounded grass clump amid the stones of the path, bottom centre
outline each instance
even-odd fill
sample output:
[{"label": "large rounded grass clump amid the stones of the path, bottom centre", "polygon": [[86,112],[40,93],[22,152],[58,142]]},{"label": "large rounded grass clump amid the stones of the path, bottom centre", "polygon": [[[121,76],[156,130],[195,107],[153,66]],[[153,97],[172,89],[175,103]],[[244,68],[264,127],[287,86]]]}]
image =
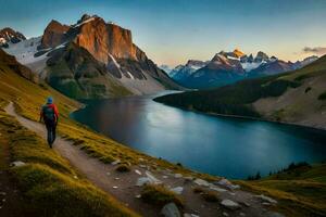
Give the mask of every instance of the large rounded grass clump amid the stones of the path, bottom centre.
[{"label": "large rounded grass clump amid the stones of the path, bottom centre", "polygon": [[167,203],[175,203],[183,206],[183,200],[163,184],[147,184],[141,191],[141,199],[149,204],[163,206]]}]

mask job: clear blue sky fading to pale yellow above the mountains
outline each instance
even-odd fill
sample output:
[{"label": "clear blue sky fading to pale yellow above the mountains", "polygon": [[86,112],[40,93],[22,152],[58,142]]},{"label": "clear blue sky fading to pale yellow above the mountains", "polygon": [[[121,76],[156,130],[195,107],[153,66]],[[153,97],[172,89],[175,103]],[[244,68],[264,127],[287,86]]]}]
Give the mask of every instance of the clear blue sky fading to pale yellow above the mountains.
[{"label": "clear blue sky fading to pale yellow above the mountains", "polygon": [[326,0],[0,0],[0,28],[42,35],[51,20],[97,14],[128,28],[158,65],[210,60],[222,50],[286,61],[326,54]]}]

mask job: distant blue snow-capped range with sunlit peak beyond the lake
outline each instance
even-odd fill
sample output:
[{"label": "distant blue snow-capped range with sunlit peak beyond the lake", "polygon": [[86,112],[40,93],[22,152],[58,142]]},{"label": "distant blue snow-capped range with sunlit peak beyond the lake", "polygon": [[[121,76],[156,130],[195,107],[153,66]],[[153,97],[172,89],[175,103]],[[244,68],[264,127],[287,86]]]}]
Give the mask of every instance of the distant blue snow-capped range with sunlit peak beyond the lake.
[{"label": "distant blue snow-capped range with sunlit peak beyond the lake", "polygon": [[221,51],[211,61],[190,60],[185,65],[178,65],[168,71],[168,75],[187,88],[206,89],[233,84],[246,78],[293,71],[317,59],[317,56],[310,56],[303,61],[291,63],[278,60],[275,56],[269,58],[262,51],[259,51],[253,56],[235,49],[233,52]]}]

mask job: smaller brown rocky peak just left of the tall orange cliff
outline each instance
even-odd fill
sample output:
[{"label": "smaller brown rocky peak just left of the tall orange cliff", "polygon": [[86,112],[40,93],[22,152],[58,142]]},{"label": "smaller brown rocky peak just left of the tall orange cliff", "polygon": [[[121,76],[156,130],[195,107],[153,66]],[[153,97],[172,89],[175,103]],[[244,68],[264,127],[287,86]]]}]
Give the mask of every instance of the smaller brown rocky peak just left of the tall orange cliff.
[{"label": "smaller brown rocky peak just left of the tall orange cliff", "polygon": [[53,48],[65,41],[65,33],[71,27],[52,20],[45,29],[40,49]]}]

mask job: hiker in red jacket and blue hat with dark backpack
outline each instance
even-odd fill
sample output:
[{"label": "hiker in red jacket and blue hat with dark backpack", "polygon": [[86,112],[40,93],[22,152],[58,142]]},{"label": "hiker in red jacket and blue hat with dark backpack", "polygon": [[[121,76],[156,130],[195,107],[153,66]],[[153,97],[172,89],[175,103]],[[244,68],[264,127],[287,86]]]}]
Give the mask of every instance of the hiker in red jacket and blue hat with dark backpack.
[{"label": "hiker in red jacket and blue hat with dark backpack", "polygon": [[49,97],[47,99],[47,104],[41,107],[39,122],[45,122],[48,130],[48,143],[52,149],[52,144],[55,140],[55,128],[58,125],[59,112],[53,104],[53,99]]}]

